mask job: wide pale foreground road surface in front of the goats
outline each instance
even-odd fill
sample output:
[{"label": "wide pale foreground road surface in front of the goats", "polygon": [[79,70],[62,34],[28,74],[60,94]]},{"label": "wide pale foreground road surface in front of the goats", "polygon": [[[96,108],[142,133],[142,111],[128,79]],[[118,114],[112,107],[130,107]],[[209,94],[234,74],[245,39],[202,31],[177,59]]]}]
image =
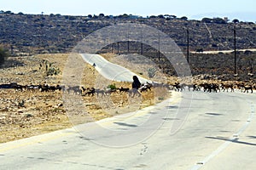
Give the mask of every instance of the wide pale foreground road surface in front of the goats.
[{"label": "wide pale foreground road surface in front of the goats", "polygon": [[0,169],[255,169],[255,97],[172,92],[143,111],[0,144]]}]

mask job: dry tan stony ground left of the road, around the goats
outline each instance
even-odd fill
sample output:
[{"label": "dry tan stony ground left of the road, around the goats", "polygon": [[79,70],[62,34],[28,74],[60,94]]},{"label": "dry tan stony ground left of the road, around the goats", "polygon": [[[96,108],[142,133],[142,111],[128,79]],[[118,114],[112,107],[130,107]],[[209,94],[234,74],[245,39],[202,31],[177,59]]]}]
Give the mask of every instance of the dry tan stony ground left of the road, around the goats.
[{"label": "dry tan stony ground left of the road, around the goats", "polygon": [[[63,70],[69,54],[38,54],[34,56],[11,57],[0,69],[1,84],[16,82],[22,86],[48,84],[62,85]],[[113,54],[112,54],[113,55]],[[105,54],[107,59],[113,56]],[[84,88],[96,87],[100,77],[93,66],[84,62]],[[46,68],[48,67],[48,68]],[[140,66],[135,69],[140,74]],[[48,70],[48,71],[46,71]],[[50,76],[49,71],[58,74]],[[146,76],[144,74],[144,76]],[[131,88],[131,82],[111,82],[116,88]],[[107,87],[106,87],[107,88]],[[157,93],[155,93],[157,91]],[[65,95],[63,95],[65,94]],[[31,137],[41,133],[72,127],[74,124],[100,120],[108,116],[136,111],[139,108],[154,105],[170,94],[165,88],[155,88],[142,93],[142,97],[128,97],[126,93],[113,93],[99,96],[68,94],[62,90],[42,92],[39,89],[0,89],[0,143]],[[64,104],[66,99],[82,100],[85,111],[75,113]],[[85,113],[85,114],[84,114]]]}]

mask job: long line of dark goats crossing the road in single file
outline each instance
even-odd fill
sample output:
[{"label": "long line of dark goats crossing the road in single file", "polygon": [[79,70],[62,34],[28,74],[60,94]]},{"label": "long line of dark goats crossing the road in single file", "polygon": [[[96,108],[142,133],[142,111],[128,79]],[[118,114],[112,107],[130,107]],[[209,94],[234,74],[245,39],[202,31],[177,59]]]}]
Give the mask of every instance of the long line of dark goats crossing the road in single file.
[{"label": "long line of dark goats crossing the road in single file", "polygon": [[0,84],[0,88],[14,88],[15,90],[25,91],[35,91],[39,92],[54,92],[62,91],[67,92],[68,94],[80,94],[83,96],[94,96],[96,95],[109,95],[113,93],[127,93],[131,95],[141,95],[143,92],[150,91],[152,88],[166,88],[167,90],[175,91],[203,91],[203,92],[220,92],[220,91],[230,91],[234,92],[235,88],[241,90],[244,93],[253,93],[253,90],[256,90],[256,86],[253,84],[231,84],[231,83],[196,83],[196,84],[187,84],[176,82],[174,84],[163,84],[163,83],[144,83],[139,89],[130,89],[130,88],[107,88],[107,89],[97,89],[97,88],[84,88],[83,86],[49,86],[48,84],[44,85],[20,85],[18,83],[9,83],[9,84]]}]

